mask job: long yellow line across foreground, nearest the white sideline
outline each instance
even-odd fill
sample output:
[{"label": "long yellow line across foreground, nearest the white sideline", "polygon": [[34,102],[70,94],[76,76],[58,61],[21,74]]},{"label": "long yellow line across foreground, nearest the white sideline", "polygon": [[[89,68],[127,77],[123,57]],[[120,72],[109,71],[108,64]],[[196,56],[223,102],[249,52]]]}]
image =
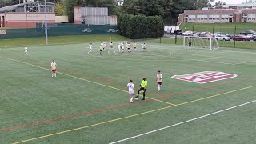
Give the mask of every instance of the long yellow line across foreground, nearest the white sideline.
[{"label": "long yellow line across foreground, nearest the white sideline", "polygon": [[[177,104],[176,106],[182,106],[182,105],[186,105],[186,104],[192,103],[192,102],[199,102],[199,101],[202,101],[202,100],[205,100],[205,99],[208,99],[208,98],[214,98],[214,97],[218,97],[218,96],[221,96],[221,95],[224,95],[224,94],[230,94],[230,93],[234,93],[234,92],[237,92],[237,91],[240,91],[240,90],[250,89],[250,88],[253,88],[255,86],[256,85],[248,86],[248,87],[244,87],[244,88],[238,89],[238,90],[231,90],[231,91],[228,91],[228,92],[222,93],[222,94],[215,94],[215,95],[212,95],[212,96],[209,96],[209,97],[206,97],[206,98],[199,98],[199,99],[189,101],[189,102],[182,102],[182,103]],[[47,134],[47,135],[44,135],[44,136],[41,136],[41,137],[31,138],[31,139],[27,139],[27,140],[20,141],[20,142],[14,142],[13,144],[18,144],[18,143],[22,143],[22,142],[29,142],[29,141],[37,140],[37,139],[40,139],[40,138],[47,138],[47,137],[58,135],[58,134],[68,133],[68,132],[74,131],[74,130],[82,130],[82,129],[92,127],[92,126],[98,126],[98,125],[102,125],[102,124],[106,124],[106,123],[110,123],[110,122],[116,122],[116,121],[126,119],[126,118],[132,118],[132,117],[139,116],[139,115],[142,115],[142,114],[149,114],[149,113],[152,113],[152,112],[155,112],[155,111],[165,110],[165,109],[168,109],[168,108],[171,108],[171,107],[175,107],[175,106],[166,106],[166,107],[163,107],[163,108],[160,108],[160,109],[150,110],[150,111],[146,111],[146,112],[143,112],[143,113],[140,113],[140,114],[134,114],[134,115],[130,115],[130,116],[122,117],[122,118],[116,118],[116,119],[112,119],[110,121],[99,122],[99,123],[96,123],[96,124],[93,124],[93,125],[82,126],[82,127],[78,127],[78,128],[71,129],[71,130],[65,130],[65,131],[62,131],[62,132],[54,133],[54,134]]]}]

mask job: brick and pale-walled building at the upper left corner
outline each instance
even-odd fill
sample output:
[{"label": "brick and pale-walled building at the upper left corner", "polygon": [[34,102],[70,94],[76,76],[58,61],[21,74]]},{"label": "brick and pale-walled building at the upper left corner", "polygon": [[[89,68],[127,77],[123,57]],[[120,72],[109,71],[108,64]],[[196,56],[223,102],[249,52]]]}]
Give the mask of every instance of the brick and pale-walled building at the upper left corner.
[{"label": "brick and pale-walled building at the upper left corner", "polygon": [[[25,2],[0,8],[0,26],[33,28],[45,21],[44,2]],[[54,3],[46,2],[47,22],[55,23]]]}]

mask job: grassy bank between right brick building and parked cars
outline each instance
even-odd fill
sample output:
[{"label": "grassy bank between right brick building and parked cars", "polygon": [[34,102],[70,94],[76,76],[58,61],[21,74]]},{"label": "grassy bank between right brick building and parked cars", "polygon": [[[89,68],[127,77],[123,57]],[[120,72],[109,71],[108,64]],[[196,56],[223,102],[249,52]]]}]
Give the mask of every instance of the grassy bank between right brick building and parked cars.
[{"label": "grassy bank between right brick building and parked cars", "polygon": [[255,23],[182,23],[181,30],[194,31],[209,31],[209,32],[223,32],[225,34],[234,34],[235,26],[237,26],[236,33],[239,34],[244,30],[256,30]]}]

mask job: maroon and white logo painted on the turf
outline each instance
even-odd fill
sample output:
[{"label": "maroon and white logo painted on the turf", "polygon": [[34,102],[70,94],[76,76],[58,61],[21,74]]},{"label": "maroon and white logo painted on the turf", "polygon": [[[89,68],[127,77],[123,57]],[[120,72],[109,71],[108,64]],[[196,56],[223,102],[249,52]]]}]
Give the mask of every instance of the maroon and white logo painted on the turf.
[{"label": "maroon and white logo painted on the turf", "polygon": [[203,72],[194,73],[194,74],[174,75],[171,78],[178,79],[181,81],[186,81],[186,82],[203,84],[208,82],[221,81],[223,79],[228,79],[228,78],[235,78],[237,76],[238,76],[237,74],[226,74],[220,71],[203,71]]}]

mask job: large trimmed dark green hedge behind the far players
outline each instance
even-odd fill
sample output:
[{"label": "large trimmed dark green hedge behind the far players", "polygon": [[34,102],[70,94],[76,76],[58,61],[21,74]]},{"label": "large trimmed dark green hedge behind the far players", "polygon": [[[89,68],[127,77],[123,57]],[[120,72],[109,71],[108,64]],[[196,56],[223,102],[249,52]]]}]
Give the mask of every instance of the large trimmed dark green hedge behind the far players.
[{"label": "large trimmed dark green hedge behind the far players", "polygon": [[118,30],[131,39],[156,38],[164,34],[164,24],[160,16],[121,14],[118,18]]}]

